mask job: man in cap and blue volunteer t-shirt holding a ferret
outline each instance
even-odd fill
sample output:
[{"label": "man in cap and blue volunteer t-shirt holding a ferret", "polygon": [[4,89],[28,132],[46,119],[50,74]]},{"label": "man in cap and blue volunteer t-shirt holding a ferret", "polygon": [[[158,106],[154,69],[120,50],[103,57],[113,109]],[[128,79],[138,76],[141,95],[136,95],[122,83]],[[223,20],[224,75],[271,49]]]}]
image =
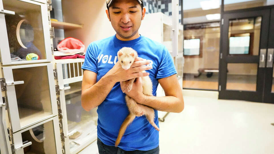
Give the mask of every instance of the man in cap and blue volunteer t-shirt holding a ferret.
[{"label": "man in cap and blue volunteer t-shirt holding a ferret", "polygon": [[[158,112],[181,112],[184,109],[182,90],[176,78],[176,69],[166,47],[139,35],[138,29],[146,9],[142,0],[107,0],[106,14],[116,35],[92,42],[82,66],[82,106],[89,111],[98,106],[99,153],[159,153],[159,132],[145,116],[136,117],[128,126],[118,147],[114,146],[119,128],[128,116],[125,95],[139,104],[155,110],[154,122],[159,127]],[[138,52],[132,67],[124,70],[117,61],[122,47]],[[146,66],[145,66],[146,65]],[[146,70],[146,73],[139,73]],[[140,77],[152,80],[153,95],[142,93]],[[137,78],[130,92],[122,92],[120,82]],[[166,96],[156,97],[158,84]],[[161,128],[160,128],[161,129]]]}]

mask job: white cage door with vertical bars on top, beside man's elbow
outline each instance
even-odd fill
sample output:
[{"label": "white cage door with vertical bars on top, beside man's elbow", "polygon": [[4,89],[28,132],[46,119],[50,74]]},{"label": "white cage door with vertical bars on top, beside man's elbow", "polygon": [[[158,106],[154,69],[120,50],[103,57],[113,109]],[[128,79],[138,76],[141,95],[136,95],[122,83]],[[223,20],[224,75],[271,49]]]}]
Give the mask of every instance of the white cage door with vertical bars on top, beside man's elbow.
[{"label": "white cage door with vertical bars on top, beside man's elbow", "polygon": [[[78,153],[97,139],[96,108],[87,112],[81,106],[84,59],[57,60],[60,110],[65,153]],[[61,61],[61,62],[60,62]]]}]

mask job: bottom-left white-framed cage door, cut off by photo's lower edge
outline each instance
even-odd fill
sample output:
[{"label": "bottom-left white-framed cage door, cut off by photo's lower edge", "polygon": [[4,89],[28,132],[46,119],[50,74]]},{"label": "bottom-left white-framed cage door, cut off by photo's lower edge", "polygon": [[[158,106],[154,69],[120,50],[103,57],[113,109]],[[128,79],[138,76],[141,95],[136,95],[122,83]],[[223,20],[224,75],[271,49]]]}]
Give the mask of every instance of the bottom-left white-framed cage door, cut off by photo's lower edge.
[{"label": "bottom-left white-framed cage door, cut off by photo's lower edge", "polygon": [[15,154],[63,154],[58,116],[13,133],[12,137]]}]

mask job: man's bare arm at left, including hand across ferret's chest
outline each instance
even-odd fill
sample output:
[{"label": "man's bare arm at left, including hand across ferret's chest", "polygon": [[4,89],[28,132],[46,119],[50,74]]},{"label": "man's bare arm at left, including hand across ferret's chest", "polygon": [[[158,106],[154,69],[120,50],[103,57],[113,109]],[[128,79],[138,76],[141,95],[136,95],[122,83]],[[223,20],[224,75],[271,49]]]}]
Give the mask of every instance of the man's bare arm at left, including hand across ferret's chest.
[{"label": "man's bare arm at left, including hand across ferret's chest", "polygon": [[[116,63],[98,82],[96,82],[97,73],[85,70],[82,80],[82,107],[86,111],[99,106],[109,94],[116,82],[126,81],[132,78],[148,76],[149,73],[142,73],[143,70],[149,70],[151,66],[148,61],[136,58],[132,64],[133,68],[124,70],[120,63]],[[136,73],[138,72],[138,73]]]}]

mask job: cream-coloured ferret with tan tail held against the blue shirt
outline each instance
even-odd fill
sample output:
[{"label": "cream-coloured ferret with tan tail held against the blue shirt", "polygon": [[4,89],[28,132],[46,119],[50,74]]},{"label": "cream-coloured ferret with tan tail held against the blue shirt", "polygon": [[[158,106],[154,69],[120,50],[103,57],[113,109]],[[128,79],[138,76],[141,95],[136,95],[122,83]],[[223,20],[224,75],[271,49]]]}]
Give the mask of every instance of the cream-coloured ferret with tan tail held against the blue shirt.
[{"label": "cream-coloured ferret with tan tail held against the blue shirt", "polygon": [[[117,52],[118,62],[121,64],[122,68],[125,70],[128,70],[132,63],[134,62],[135,58],[138,56],[137,52],[128,47],[123,47]],[[146,72],[146,71],[142,71]],[[122,92],[125,92],[126,90],[129,92],[132,89],[132,84],[134,82],[135,78],[123,81],[122,84]],[[142,85],[143,85],[143,94],[152,96],[152,82],[149,78],[149,76],[142,77]],[[149,123],[158,131],[160,129],[157,127],[157,125],[154,123],[154,110],[148,106],[138,104],[133,100],[132,98],[125,96],[126,99],[126,105],[128,106],[129,114],[122,123],[118,137],[115,142],[115,147],[117,147],[122,139],[122,136],[124,135],[126,128],[128,125],[135,119],[136,116],[143,116],[145,115],[148,119]]]}]

